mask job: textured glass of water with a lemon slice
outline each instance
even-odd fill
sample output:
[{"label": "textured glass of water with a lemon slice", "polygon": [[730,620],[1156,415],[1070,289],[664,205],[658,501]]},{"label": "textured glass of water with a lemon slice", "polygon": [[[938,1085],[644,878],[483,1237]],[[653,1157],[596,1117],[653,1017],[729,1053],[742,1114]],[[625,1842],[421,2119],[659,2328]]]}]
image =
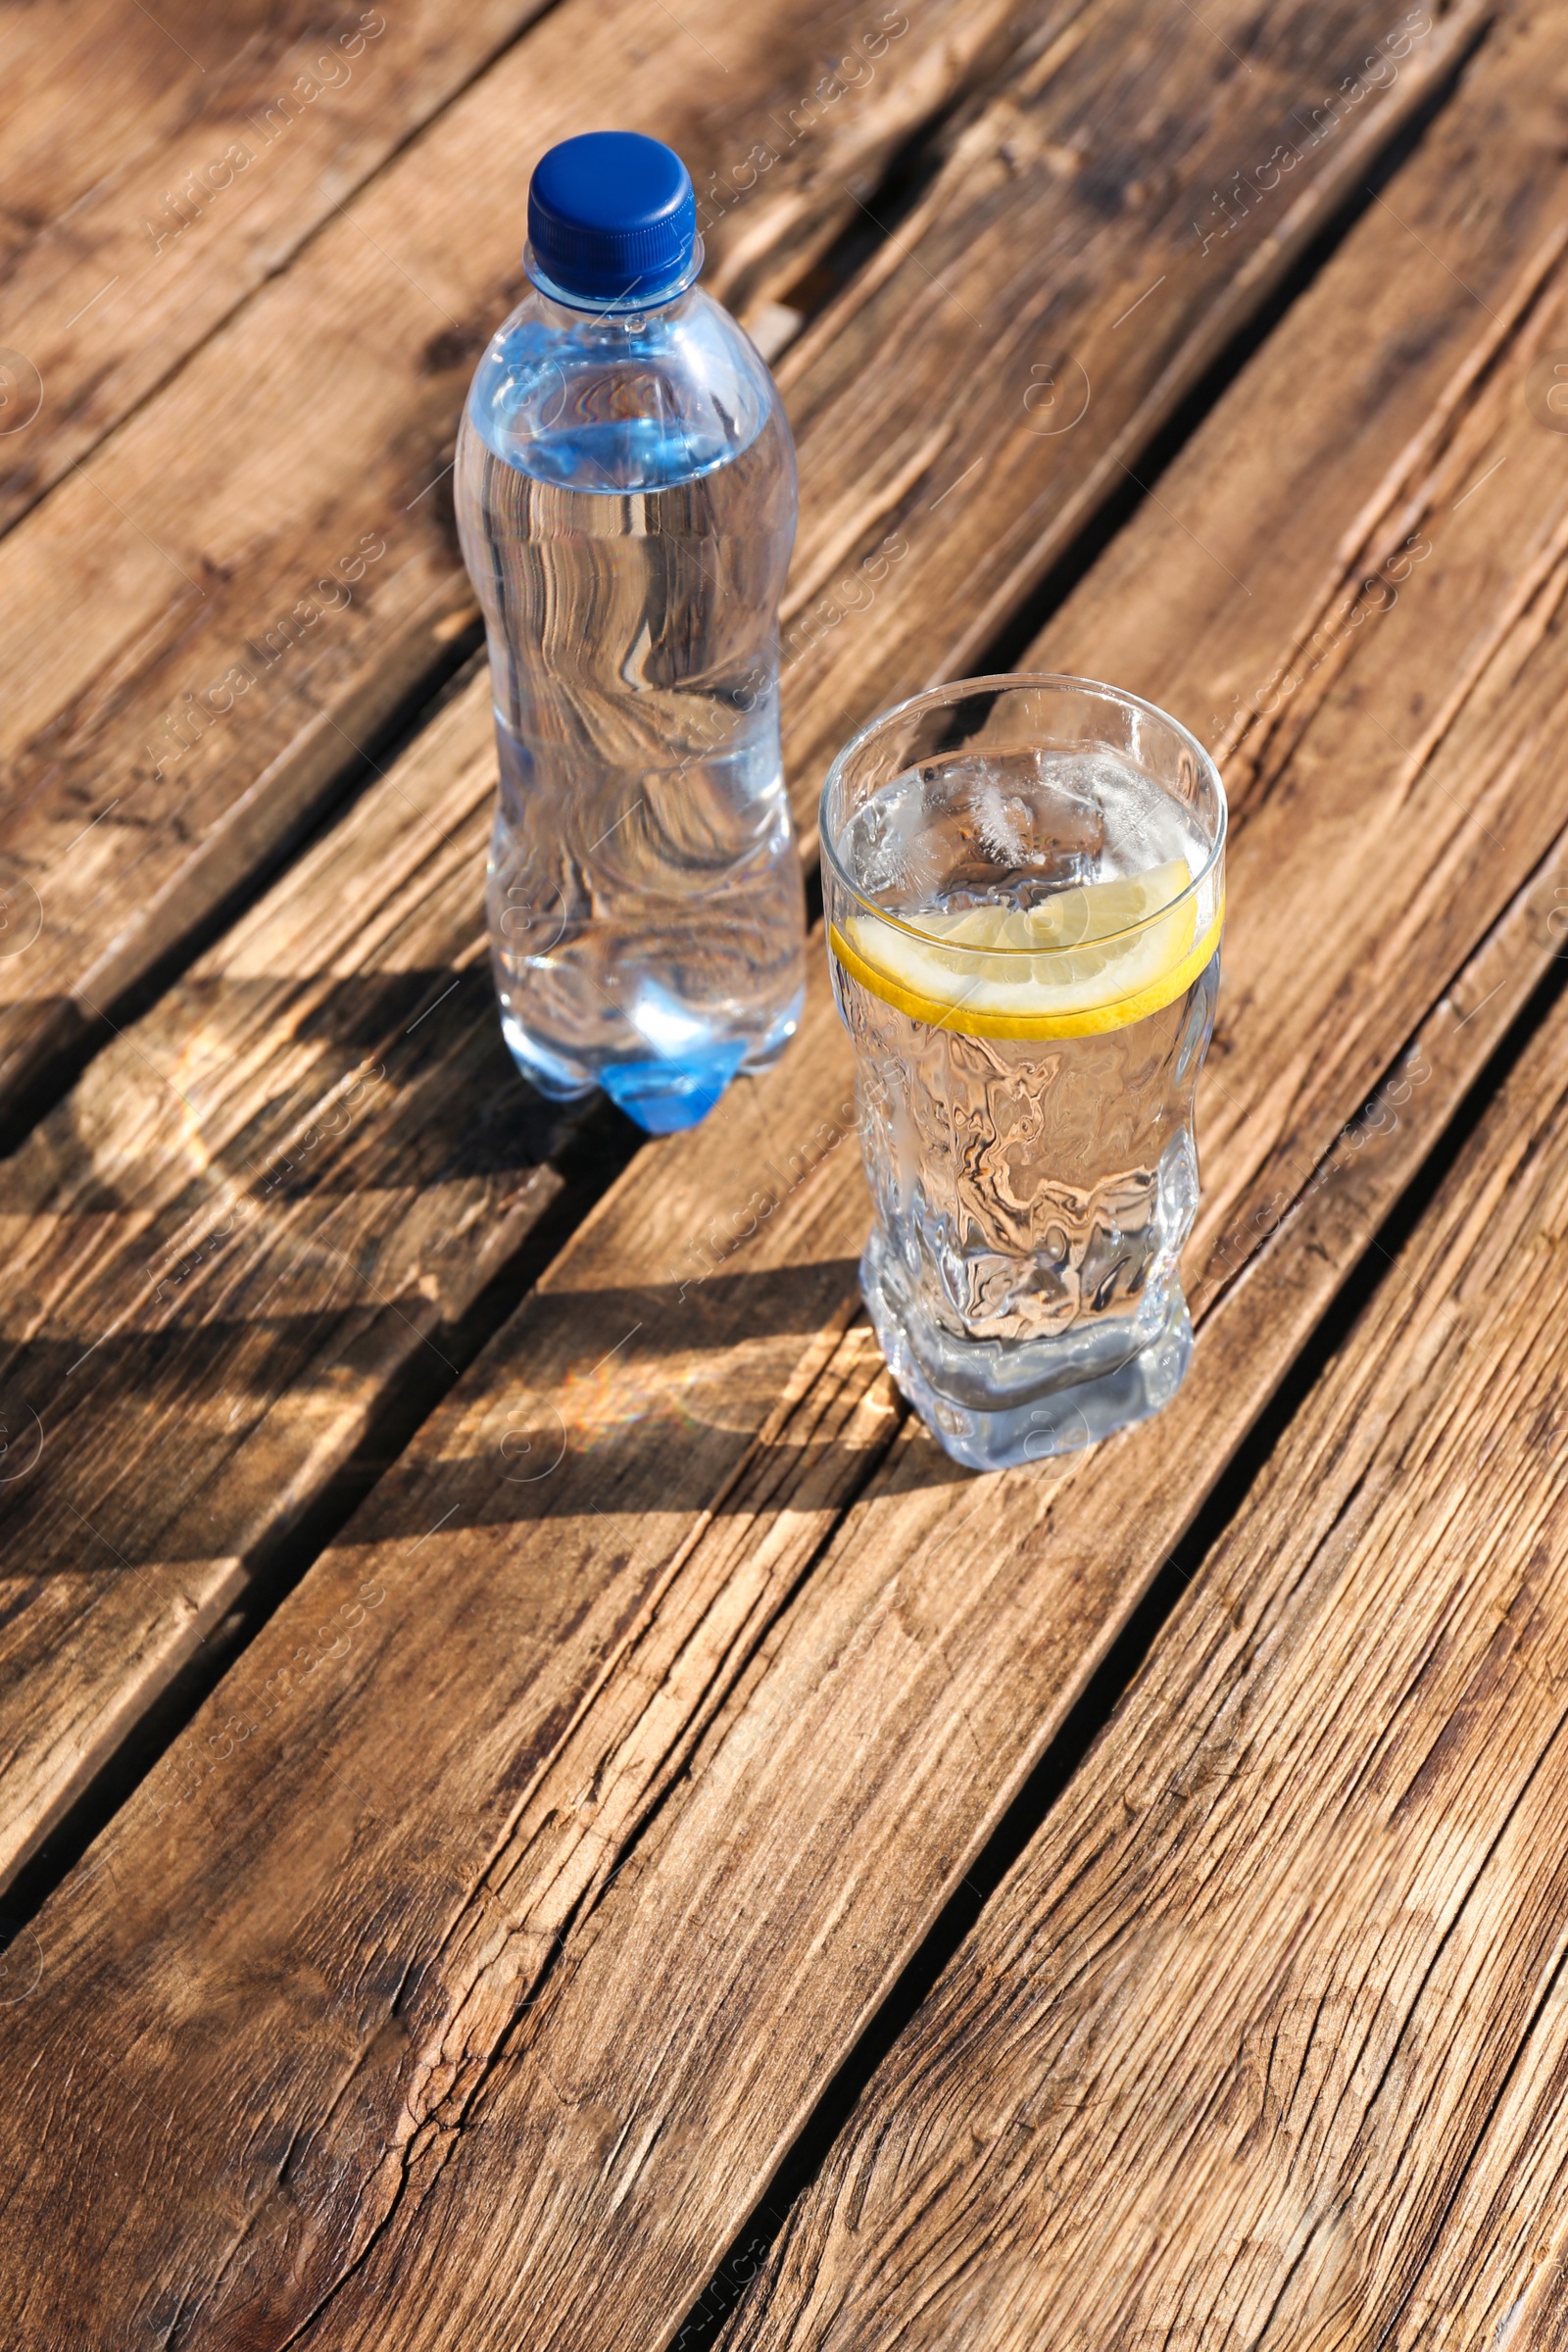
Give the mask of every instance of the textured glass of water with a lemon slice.
[{"label": "textured glass of water with a lemon slice", "polygon": [[1074,1454],[1192,1355],[1215,764],[1114,687],[978,677],[865,727],[820,826],[882,1350],[954,1461]]}]

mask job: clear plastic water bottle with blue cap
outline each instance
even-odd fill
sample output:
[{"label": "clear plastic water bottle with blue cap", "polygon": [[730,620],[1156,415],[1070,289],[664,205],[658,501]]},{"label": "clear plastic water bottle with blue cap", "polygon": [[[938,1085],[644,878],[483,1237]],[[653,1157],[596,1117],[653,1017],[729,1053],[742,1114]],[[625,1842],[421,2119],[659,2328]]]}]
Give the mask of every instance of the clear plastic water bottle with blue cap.
[{"label": "clear plastic water bottle with blue cap", "polygon": [[802,1009],[778,748],[795,442],[696,282],[691,179],[656,139],[550,148],[524,266],[456,461],[501,743],[501,1028],[541,1094],[599,1084],[668,1134]]}]

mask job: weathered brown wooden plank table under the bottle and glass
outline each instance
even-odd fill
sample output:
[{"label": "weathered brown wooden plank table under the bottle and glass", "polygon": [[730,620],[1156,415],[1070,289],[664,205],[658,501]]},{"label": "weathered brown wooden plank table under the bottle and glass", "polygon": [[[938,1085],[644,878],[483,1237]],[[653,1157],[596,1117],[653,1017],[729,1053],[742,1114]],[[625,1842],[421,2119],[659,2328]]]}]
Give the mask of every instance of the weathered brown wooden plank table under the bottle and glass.
[{"label": "weathered brown wooden plank table under the bottle and glass", "polygon": [[[1568,31],[7,12],[2,2352],[1568,2343]],[[1215,748],[1192,1376],[969,1477],[851,1058],[529,1105],[447,475],[642,125],[802,456],[802,840]]]}]

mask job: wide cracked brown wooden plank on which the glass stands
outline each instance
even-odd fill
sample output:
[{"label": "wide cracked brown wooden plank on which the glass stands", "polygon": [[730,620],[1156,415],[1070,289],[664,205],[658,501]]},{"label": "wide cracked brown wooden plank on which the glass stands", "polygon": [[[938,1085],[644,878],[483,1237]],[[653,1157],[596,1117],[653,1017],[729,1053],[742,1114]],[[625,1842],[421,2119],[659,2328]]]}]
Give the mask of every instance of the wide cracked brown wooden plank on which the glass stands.
[{"label": "wide cracked brown wooden plank on which the glass stands", "polygon": [[[1507,54],[1540,71],[1528,45]],[[1389,193],[1420,223],[1446,200],[1441,148]],[[1356,230],[1206,433],[1246,433],[1281,388],[1312,405],[1314,306],[1380,282],[1392,233],[1380,214]],[[1556,280],[1465,407],[1514,461],[1552,301]],[[1378,480],[1401,470],[1399,442],[1375,454]],[[903,1421],[853,1312],[865,1202],[818,990],[778,1073],[602,1202],[40,1917],[0,2218],[28,2352],[148,2314],[212,2345],[675,2333],[1554,953],[1568,663],[1542,550],[1568,482],[1537,468],[1521,515],[1441,466],[1406,473],[1425,482],[1413,522],[1453,510],[1420,567],[1432,593],[1352,633],[1237,828],[1239,898],[1267,880],[1305,903],[1333,877],[1338,962],[1328,938],[1302,962],[1286,1037],[1262,988],[1279,943],[1237,922],[1218,1077],[1265,1138],[1237,1112],[1208,1150],[1208,1230],[1246,1211],[1253,1263],[1213,1289],[1178,1404],[1060,1484],[966,1479]],[[1368,496],[1354,468],[1335,487],[1309,553]],[[1161,564],[1147,595],[1180,597],[1178,557]],[[1514,630],[1406,776],[1347,713],[1373,680],[1462,675],[1476,583]],[[1509,757],[1540,793],[1509,788]],[[1450,811],[1460,771],[1483,858]],[[1387,873],[1340,863],[1396,816]],[[1382,953],[1410,910],[1418,943]],[[1368,1068],[1392,1077],[1347,1134]],[[1258,1228],[1286,1134],[1295,1209]],[[153,2023],[169,2013],[179,2032]],[[45,2103],[68,2065],[61,2124]],[[143,2112],[172,2117],[146,2187],[99,2194]],[[40,2279],[31,2244],[61,2204],[71,2239]]]}]

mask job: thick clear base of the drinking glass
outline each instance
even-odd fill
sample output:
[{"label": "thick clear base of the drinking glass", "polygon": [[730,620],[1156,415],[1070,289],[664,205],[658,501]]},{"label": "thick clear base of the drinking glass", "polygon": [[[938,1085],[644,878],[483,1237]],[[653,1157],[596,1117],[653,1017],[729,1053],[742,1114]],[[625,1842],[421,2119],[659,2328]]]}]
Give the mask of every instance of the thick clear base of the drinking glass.
[{"label": "thick clear base of the drinking glass", "polygon": [[[889,1371],[943,1451],[969,1470],[1016,1470],[1084,1454],[1159,1414],[1192,1362],[1192,1322],[1178,1279],[1157,1334],[1135,1355],[1103,1369],[1091,1359],[1074,1362],[1072,1343],[1060,1341],[1009,1345],[931,1331],[917,1350],[905,1324],[910,1303],[900,1291],[886,1244],[872,1232],[860,1258],[860,1296]],[[1110,1334],[1091,1334],[1091,1343],[1103,1336]],[[1053,1364],[1041,1362],[1046,1355]],[[936,1357],[943,1383],[952,1385],[938,1388],[922,1357]]]}]

